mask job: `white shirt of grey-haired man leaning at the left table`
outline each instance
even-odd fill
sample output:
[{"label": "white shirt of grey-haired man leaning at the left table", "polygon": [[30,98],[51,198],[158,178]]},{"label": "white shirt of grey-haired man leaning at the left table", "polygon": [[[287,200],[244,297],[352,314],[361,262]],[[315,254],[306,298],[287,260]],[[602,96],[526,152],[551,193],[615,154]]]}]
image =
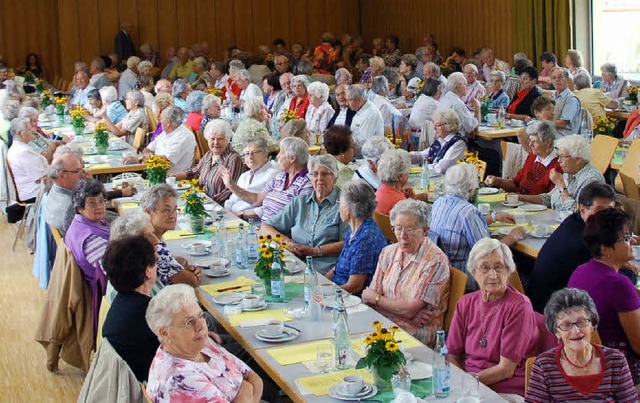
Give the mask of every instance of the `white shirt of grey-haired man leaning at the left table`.
[{"label": "white shirt of grey-haired man leaning at the left table", "polygon": [[171,133],[160,133],[147,148],[171,161],[170,173],[184,172],[193,164],[196,138],[188,127],[180,125]]}]

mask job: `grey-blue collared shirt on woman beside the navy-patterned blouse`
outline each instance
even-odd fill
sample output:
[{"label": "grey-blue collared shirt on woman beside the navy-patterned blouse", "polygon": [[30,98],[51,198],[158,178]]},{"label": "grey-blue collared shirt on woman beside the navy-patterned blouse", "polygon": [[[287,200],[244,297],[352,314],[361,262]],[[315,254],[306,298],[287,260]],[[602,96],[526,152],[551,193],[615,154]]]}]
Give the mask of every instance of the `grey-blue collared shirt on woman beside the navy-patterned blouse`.
[{"label": "grey-blue collared shirt on woman beside the navy-patterned blouse", "polygon": [[[267,224],[303,245],[318,247],[343,241],[348,225],[340,219],[339,194],[334,188],[320,204],[314,192],[297,196]],[[318,256],[313,258],[313,266],[324,275],[337,260],[337,256]]]}]

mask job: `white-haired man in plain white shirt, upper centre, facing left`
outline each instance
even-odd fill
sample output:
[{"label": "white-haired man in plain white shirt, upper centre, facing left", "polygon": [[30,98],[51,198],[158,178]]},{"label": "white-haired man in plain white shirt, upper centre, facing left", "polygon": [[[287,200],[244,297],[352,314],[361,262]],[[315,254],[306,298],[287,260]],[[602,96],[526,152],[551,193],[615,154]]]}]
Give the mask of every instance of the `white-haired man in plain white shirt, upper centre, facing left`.
[{"label": "white-haired man in plain white shirt, upper centre, facing left", "polygon": [[384,122],[380,110],[366,98],[367,89],[359,84],[350,85],[346,90],[347,104],[356,114],[351,121],[351,132],[356,141],[356,154],[370,137],[384,136]]}]

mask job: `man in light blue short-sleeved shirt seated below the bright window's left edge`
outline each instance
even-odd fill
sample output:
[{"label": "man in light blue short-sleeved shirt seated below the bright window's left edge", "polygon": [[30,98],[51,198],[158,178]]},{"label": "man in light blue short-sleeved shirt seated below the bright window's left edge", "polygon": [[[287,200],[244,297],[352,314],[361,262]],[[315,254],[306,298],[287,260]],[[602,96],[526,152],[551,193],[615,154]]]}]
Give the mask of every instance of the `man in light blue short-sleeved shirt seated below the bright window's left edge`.
[{"label": "man in light blue short-sleeved shirt seated below the bright window's left edge", "polygon": [[551,71],[551,83],[556,89],[553,100],[553,122],[559,137],[580,133],[580,101],[569,89],[569,70],[556,67]]}]

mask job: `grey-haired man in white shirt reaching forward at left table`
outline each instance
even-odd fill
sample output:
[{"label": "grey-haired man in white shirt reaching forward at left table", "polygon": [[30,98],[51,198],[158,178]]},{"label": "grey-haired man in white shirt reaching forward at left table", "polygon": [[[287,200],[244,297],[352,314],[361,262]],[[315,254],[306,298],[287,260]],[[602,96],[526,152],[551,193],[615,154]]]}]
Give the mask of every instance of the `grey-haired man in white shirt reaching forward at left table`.
[{"label": "grey-haired man in white shirt reaching forward at left table", "polygon": [[162,133],[144,150],[142,156],[127,157],[125,163],[138,163],[153,154],[163,156],[171,161],[173,172],[184,172],[191,168],[196,151],[196,139],[191,130],[184,124],[184,112],[177,106],[170,106],[162,111],[160,123]]}]

